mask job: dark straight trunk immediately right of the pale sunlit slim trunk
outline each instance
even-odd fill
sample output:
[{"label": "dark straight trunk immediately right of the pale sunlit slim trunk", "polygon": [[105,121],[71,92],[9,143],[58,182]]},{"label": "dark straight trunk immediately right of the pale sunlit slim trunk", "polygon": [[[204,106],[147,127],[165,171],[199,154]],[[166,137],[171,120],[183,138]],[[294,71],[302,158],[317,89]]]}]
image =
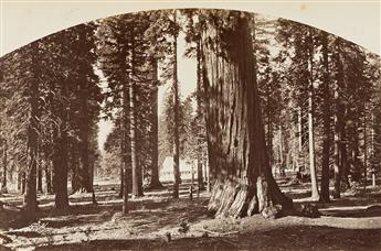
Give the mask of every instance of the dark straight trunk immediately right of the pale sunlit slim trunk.
[{"label": "dark straight trunk immediately right of the pale sunlit slim trunk", "polygon": [[329,65],[328,65],[328,33],[322,33],[322,66],[324,66],[324,138],[321,161],[321,197],[329,203],[329,150],[330,150],[330,95],[329,95]]}]

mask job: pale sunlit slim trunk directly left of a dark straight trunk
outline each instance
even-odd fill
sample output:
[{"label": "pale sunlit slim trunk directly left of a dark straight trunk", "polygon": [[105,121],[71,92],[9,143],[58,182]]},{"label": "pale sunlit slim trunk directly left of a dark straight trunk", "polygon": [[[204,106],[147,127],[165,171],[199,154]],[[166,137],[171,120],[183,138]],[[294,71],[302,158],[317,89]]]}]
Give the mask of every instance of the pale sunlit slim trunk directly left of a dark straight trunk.
[{"label": "pale sunlit slim trunk directly left of a dark straight trunk", "polygon": [[316,160],[315,160],[315,135],[314,135],[314,117],[315,117],[315,103],[314,103],[314,39],[313,29],[309,29],[309,91],[308,91],[308,152],[309,152],[309,171],[311,177],[311,199],[319,199],[319,190],[316,177]]}]

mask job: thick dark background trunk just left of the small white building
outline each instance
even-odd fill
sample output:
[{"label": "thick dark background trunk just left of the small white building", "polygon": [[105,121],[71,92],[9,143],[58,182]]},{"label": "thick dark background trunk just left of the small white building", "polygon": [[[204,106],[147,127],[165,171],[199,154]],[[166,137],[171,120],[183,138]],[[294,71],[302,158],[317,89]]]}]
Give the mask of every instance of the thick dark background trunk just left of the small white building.
[{"label": "thick dark background trunk just left of the small white building", "polygon": [[152,90],[151,95],[151,144],[152,144],[152,163],[151,163],[151,181],[149,184],[150,189],[162,188],[159,181],[159,122],[158,122],[158,95],[159,95],[159,87],[158,87],[158,64],[157,59],[151,59],[152,65]]}]

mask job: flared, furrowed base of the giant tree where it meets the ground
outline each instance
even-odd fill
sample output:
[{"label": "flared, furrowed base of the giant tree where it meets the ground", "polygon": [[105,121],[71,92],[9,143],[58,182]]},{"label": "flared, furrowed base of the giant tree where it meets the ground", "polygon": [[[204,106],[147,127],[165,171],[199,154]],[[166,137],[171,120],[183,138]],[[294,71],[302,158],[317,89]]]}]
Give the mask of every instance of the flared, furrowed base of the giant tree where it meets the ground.
[{"label": "flared, furrowed base of the giant tree where it meets the ground", "polygon": [[278,218],[284,210],[292,208],[293,200],[262,177],[251,186],[229,179],[216,181],[208,206],[215,218],[241,218],[254,214]]}]

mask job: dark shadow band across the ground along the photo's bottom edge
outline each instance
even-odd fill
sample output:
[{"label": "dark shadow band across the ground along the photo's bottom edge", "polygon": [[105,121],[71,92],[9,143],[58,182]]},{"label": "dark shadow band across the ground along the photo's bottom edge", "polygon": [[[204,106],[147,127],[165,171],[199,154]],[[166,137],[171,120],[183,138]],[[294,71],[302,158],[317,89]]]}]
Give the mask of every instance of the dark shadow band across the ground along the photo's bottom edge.
[{"label": "dark shadow band across the ground along the photo's bottom edge", "polygon": [[94,240],[36,250],[380,250],[380,231],[290,226],[225,237]]}]

